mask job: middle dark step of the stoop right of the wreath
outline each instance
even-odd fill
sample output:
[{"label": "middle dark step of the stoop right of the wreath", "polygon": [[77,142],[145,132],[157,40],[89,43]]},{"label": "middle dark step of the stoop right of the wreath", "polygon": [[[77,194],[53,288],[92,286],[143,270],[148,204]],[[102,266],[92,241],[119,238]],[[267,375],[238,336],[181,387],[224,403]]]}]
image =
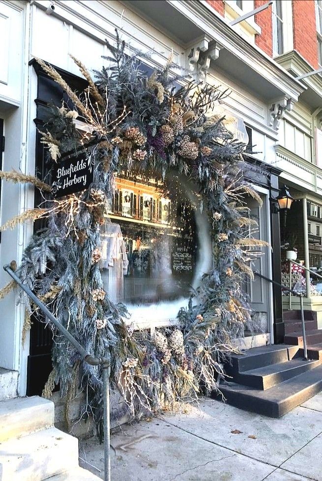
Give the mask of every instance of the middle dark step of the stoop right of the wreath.
[{"label": "middle dark step of the stoop right of the wreath", "polygon": [[251,388],[266,390],[287,379],[313,369],[319,364],[320,361],[304,361],[301,358],[296,358],[292,361],[280,362],[278,364],[271,364],[269,366],[236,373],[234,374],[234,382]]}]

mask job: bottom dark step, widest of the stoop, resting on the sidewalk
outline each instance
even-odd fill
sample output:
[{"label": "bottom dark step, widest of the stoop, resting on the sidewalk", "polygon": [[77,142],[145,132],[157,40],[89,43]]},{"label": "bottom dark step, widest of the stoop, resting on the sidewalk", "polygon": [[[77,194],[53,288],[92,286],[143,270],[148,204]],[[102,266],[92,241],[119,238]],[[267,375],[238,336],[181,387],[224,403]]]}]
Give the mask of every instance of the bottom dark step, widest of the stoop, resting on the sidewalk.
[{"label": "bottom dark step, widest of the stoop, resting on the sidewalk", "polygon": [[322,365],[265,391],[235,383],[220,386],[228,404],[270,418],[280,418],[321,390]]}]

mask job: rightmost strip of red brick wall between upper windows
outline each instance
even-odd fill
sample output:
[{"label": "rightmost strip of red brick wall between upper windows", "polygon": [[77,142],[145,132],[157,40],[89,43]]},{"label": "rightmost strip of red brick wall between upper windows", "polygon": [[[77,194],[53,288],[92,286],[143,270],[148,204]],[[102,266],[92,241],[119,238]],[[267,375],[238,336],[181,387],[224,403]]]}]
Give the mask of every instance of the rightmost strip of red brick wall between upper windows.
[{"label": "rightmost strip of red brick wall between upper windows", "polygon": [[317,26],[314,0],[293,0],[293,43],[304,59],[318,68]]}]

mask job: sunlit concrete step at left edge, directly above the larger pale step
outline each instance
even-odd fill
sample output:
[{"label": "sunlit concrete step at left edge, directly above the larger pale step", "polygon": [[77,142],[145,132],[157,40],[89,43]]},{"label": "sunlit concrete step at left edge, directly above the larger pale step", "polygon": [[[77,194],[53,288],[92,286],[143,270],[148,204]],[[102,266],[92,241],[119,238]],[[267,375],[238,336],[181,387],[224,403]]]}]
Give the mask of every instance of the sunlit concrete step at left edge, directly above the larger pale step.
[{"label": "sunlit concrete step at left edge, directly above the larger pale step", "polygon": [[0,402],[0,442],[54,426],[54,403],[42,397],[17,397]]}]

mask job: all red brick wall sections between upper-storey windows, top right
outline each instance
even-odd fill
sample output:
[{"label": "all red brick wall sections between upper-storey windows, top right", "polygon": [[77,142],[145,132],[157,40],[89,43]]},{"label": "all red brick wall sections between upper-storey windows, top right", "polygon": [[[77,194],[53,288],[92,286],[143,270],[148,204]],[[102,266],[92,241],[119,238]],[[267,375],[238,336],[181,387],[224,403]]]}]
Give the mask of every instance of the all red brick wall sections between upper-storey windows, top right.
[{"label": "all red brick wall sections between upper-storey windows, top right", "polygon": [[[206,0],[220,15],[225,14],[223,0]],[[292,1],[293,10],[293,49],[296,50],[313,68],[318,68],[317,27],[314,0],[282,0]],[[267,0],[254,0],[257,8]],[[269,6],[255,15],[255,22],[262,33],[255,36],[256,45],[267,55],[273,55],[272,39],[272,7]]]}]

